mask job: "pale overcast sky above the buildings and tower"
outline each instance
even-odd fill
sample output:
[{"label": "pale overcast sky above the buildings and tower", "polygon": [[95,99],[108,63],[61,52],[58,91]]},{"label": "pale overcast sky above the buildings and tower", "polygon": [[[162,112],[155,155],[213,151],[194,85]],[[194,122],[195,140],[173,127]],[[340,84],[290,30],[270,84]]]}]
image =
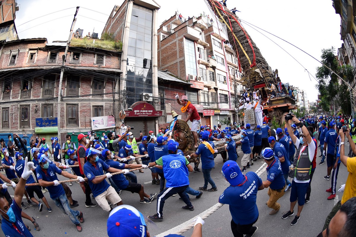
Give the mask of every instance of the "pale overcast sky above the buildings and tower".
[{"label": "pale overcast sky above the buildings and tower", "polygon": [[[159,25],[173,16],[177,10],[183,17],[199,16],[203,11],[209,14],[204,0],[156,1],[161,5],[161,9],[158,11]],[[74,28],[84,29],[85,34],[93,32],[94,29],[94,32],[99,33],[100,36],[111,10],[115,5],[121,5],[122,2],[122,0],[17,0],[17,3],[20,4],[20,10],[17,12],[15,20],[17,32],[20,39],[44,37],[48,39],[48,42],[65,41],[69,36],[75,7],[80,6]],[[70,7],[72,8],[30,21],[36,17]],[[241,20],[276,34],[317,59],[320,59],[321,49],[333,46],[337,50],[341,47],[340,16],[335,14],[331,0],[229,0],[227,7],[229,9],[236,7],[237,10],[241,11],[237,12]],[[26,23],[27,21],[30,22]],[[300,64],[312,75],[315,75],[316,67],[320,64],[292,45],[263,32],[297,59],[299,64],[261,33],[245,23],[244,27],[271,68],[273,70],[278,69],[282,82],[289,82],[290,85],[298,86],[306,91],[309,102],[315,101],[318,94],[315,89],[317,82],[311,76],[311,80],[309,79],[308,72]]]}]

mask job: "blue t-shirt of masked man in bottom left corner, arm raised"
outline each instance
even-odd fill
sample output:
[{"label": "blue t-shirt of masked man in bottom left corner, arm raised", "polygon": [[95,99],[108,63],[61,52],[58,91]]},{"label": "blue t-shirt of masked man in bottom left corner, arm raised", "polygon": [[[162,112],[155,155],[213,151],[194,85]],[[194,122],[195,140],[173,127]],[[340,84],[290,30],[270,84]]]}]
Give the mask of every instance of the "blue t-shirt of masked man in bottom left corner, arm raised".
[{"label": "blue t-shirt of masked man in bottom left corner, arm raised", "polygon": [[[62,187],[62,185],[61,185]],[[33,235],[31,235],[30,231],[27,230],[25,224],[22,221],[22,217],[21,217],[21,208],[17,205],[16,201],[13,200],[12,204],[10,206],[10,208],[12,208],[12,211],[14,211],[15,217],[16,217],[16,221],[14,223],[14,225],[16,226],[17,231],[12,225],[13,223],[11,223],[10,221],[7,221],[5,218],[2,218],[2,223],[1,223],[1,229],[2,232],[4,232],[6,237],[33,237]],[[20,232],[20,233],[19,233]]]}]

